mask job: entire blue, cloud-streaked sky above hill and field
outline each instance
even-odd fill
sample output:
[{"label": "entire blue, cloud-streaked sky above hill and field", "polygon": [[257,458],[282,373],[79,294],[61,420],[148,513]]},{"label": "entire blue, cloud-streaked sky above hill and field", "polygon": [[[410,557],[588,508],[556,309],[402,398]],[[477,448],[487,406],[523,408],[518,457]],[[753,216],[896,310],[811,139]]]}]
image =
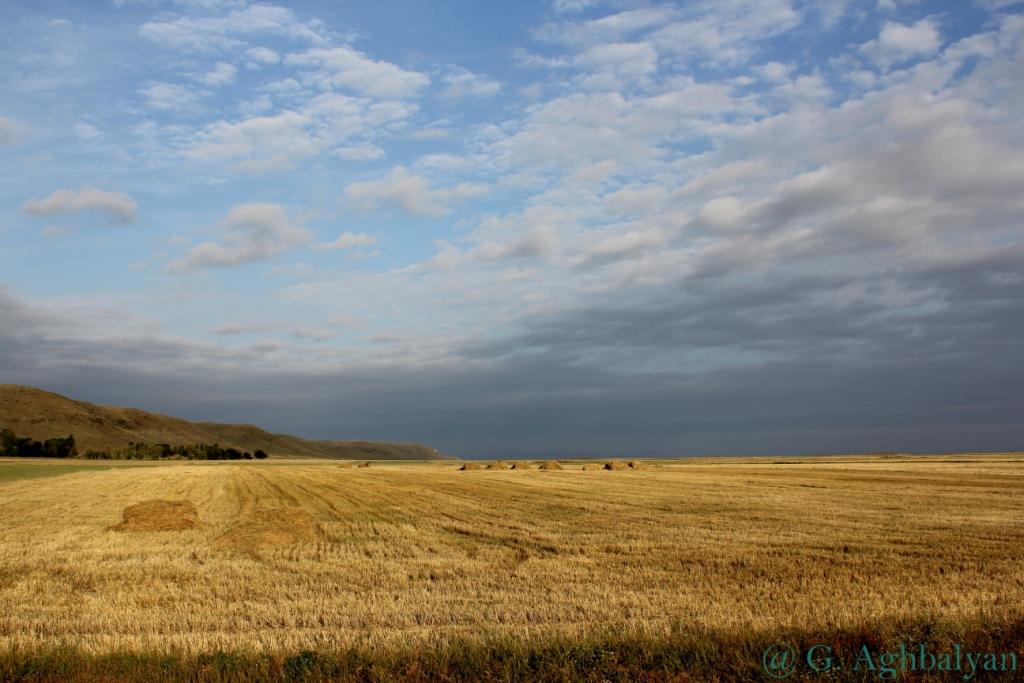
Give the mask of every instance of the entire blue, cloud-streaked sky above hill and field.
[{"label": "entire blue, cloud-streaked sky above hill and field", "polygon": [[0,382],[463,457],[1024,449],[1022,2],[0,11]]}]

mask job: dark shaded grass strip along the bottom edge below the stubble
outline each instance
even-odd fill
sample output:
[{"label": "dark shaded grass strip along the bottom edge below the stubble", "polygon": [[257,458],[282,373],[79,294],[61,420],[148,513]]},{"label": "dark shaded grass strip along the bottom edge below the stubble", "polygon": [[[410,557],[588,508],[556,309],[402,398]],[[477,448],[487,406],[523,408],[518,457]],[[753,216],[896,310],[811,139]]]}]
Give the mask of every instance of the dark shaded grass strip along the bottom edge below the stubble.
[{"label": "dark shaded grass strip along the bottom edge below the stubble", "polygon": [[[777,652],[780,644],[799,653],[792,669],[766,670],[766,651]],[[955,671],[900,672],[898,664],[883,665],[883,653],[898,652],[901,644],[911,652],[920,646],[932,653],[953,652],[957,645],[965,652],[1015,652],[1017,670],[985,672],[979,664],[969,677],[966,656]],[[820,670],[821,656],[813,665],[804,656],[814,646],[836,663],[828,671]],[[985,624],[893,622],[826,633],[679,631],[656,638],[608,633],[540,643],[482,639],[389,652],[96,655],[57,648],[0,653],[0,681],[1017,681],[1022,647],[1024,617]],[[873,655],[870,664],[865,651]]]}]

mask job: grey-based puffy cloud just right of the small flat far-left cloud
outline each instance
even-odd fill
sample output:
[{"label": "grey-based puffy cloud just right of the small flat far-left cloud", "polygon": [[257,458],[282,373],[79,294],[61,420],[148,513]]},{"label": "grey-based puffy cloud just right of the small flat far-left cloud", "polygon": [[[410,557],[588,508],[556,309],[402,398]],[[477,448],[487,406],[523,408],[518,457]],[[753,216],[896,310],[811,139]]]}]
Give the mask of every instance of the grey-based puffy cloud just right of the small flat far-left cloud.
[{"label": "grey-based puffy cloud just right of the small flat far-left cloud", "polygon": [[309,244],[312,231],[293,223],[278,204],[242,204],[217,223],[220,242],[204,242],[167,265],[170,272],[189,272],[262,261],[293,247]]}]

